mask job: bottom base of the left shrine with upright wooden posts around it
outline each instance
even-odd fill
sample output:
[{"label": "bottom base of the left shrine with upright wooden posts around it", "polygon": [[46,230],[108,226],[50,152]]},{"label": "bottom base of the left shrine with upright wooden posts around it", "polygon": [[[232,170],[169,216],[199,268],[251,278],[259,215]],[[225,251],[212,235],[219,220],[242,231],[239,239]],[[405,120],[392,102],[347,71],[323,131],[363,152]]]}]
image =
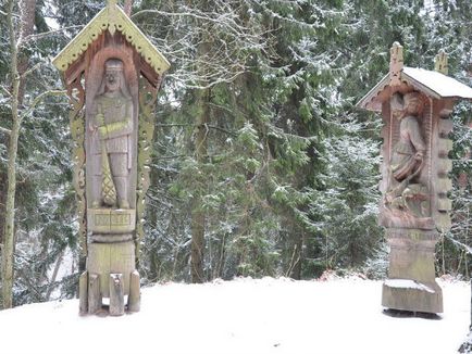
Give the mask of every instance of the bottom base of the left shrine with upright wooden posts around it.
[{"label": "bottom base of the left shrine with upright wooden posts around it", "polygon": [[126,296],[127,309],[138,312],[140,289],[134,242],[89,243],[87,270],[79,278],[80,315],[101,311],[108,298],[110,315],[121,316],[126,309]]}]

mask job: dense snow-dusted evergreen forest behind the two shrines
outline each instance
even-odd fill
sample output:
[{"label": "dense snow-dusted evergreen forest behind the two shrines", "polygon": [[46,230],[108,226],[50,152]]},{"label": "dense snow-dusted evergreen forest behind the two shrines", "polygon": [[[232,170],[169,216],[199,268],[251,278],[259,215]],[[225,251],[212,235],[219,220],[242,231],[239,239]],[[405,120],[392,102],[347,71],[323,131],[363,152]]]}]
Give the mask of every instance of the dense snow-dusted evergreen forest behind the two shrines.
[{"label": "dense snow-dusted evergreen forest behind the two shrines", "polygon": [[[0,0],[0,240],[13,163],[14,305],[77,290],[84,262],[69,103],[51,59],[104,4]],[[355,104],[387,73],[394,41],[405,47],[408,66],[433,68],[444,49],[449,75],[472,86],[470,0],[122,5],[132,7],[132,20],[172,64],[156,112],[142,281],[310,279],[326,269],[384,277],[387,246],[376,224],[381,119]],[[436,263],[438,275],[465,278],[470,112],[460,103],[454,114],[454,227],[442,235]]]}]

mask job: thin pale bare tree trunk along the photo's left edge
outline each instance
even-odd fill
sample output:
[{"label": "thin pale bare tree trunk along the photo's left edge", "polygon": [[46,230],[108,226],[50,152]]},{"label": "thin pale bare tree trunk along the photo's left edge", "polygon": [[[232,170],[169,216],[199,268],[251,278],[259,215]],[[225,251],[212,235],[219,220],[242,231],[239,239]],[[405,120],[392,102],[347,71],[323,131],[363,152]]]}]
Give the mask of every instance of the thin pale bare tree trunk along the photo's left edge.
[{"label": "thin pale bare tree trunk along the photo's left edge", "polygon": [[2,299],[3,308],[13,306],[13,252],[14,252],[14,219],[15,219],[15,191],[16,191],[16,153],[20,134],[20,116],[18,116],[18,88],[20,77],[17,72],[17,47],[15,42],[15,29],[13,23],[13,10],[15,1],[8,2],[7,25],[10,35],[10,76],[12,78],[12,129],[10,132],[10,143],[8,147],[8,187],[5,198],[5,224],[4,224],[4,240],[2,249]]}]

